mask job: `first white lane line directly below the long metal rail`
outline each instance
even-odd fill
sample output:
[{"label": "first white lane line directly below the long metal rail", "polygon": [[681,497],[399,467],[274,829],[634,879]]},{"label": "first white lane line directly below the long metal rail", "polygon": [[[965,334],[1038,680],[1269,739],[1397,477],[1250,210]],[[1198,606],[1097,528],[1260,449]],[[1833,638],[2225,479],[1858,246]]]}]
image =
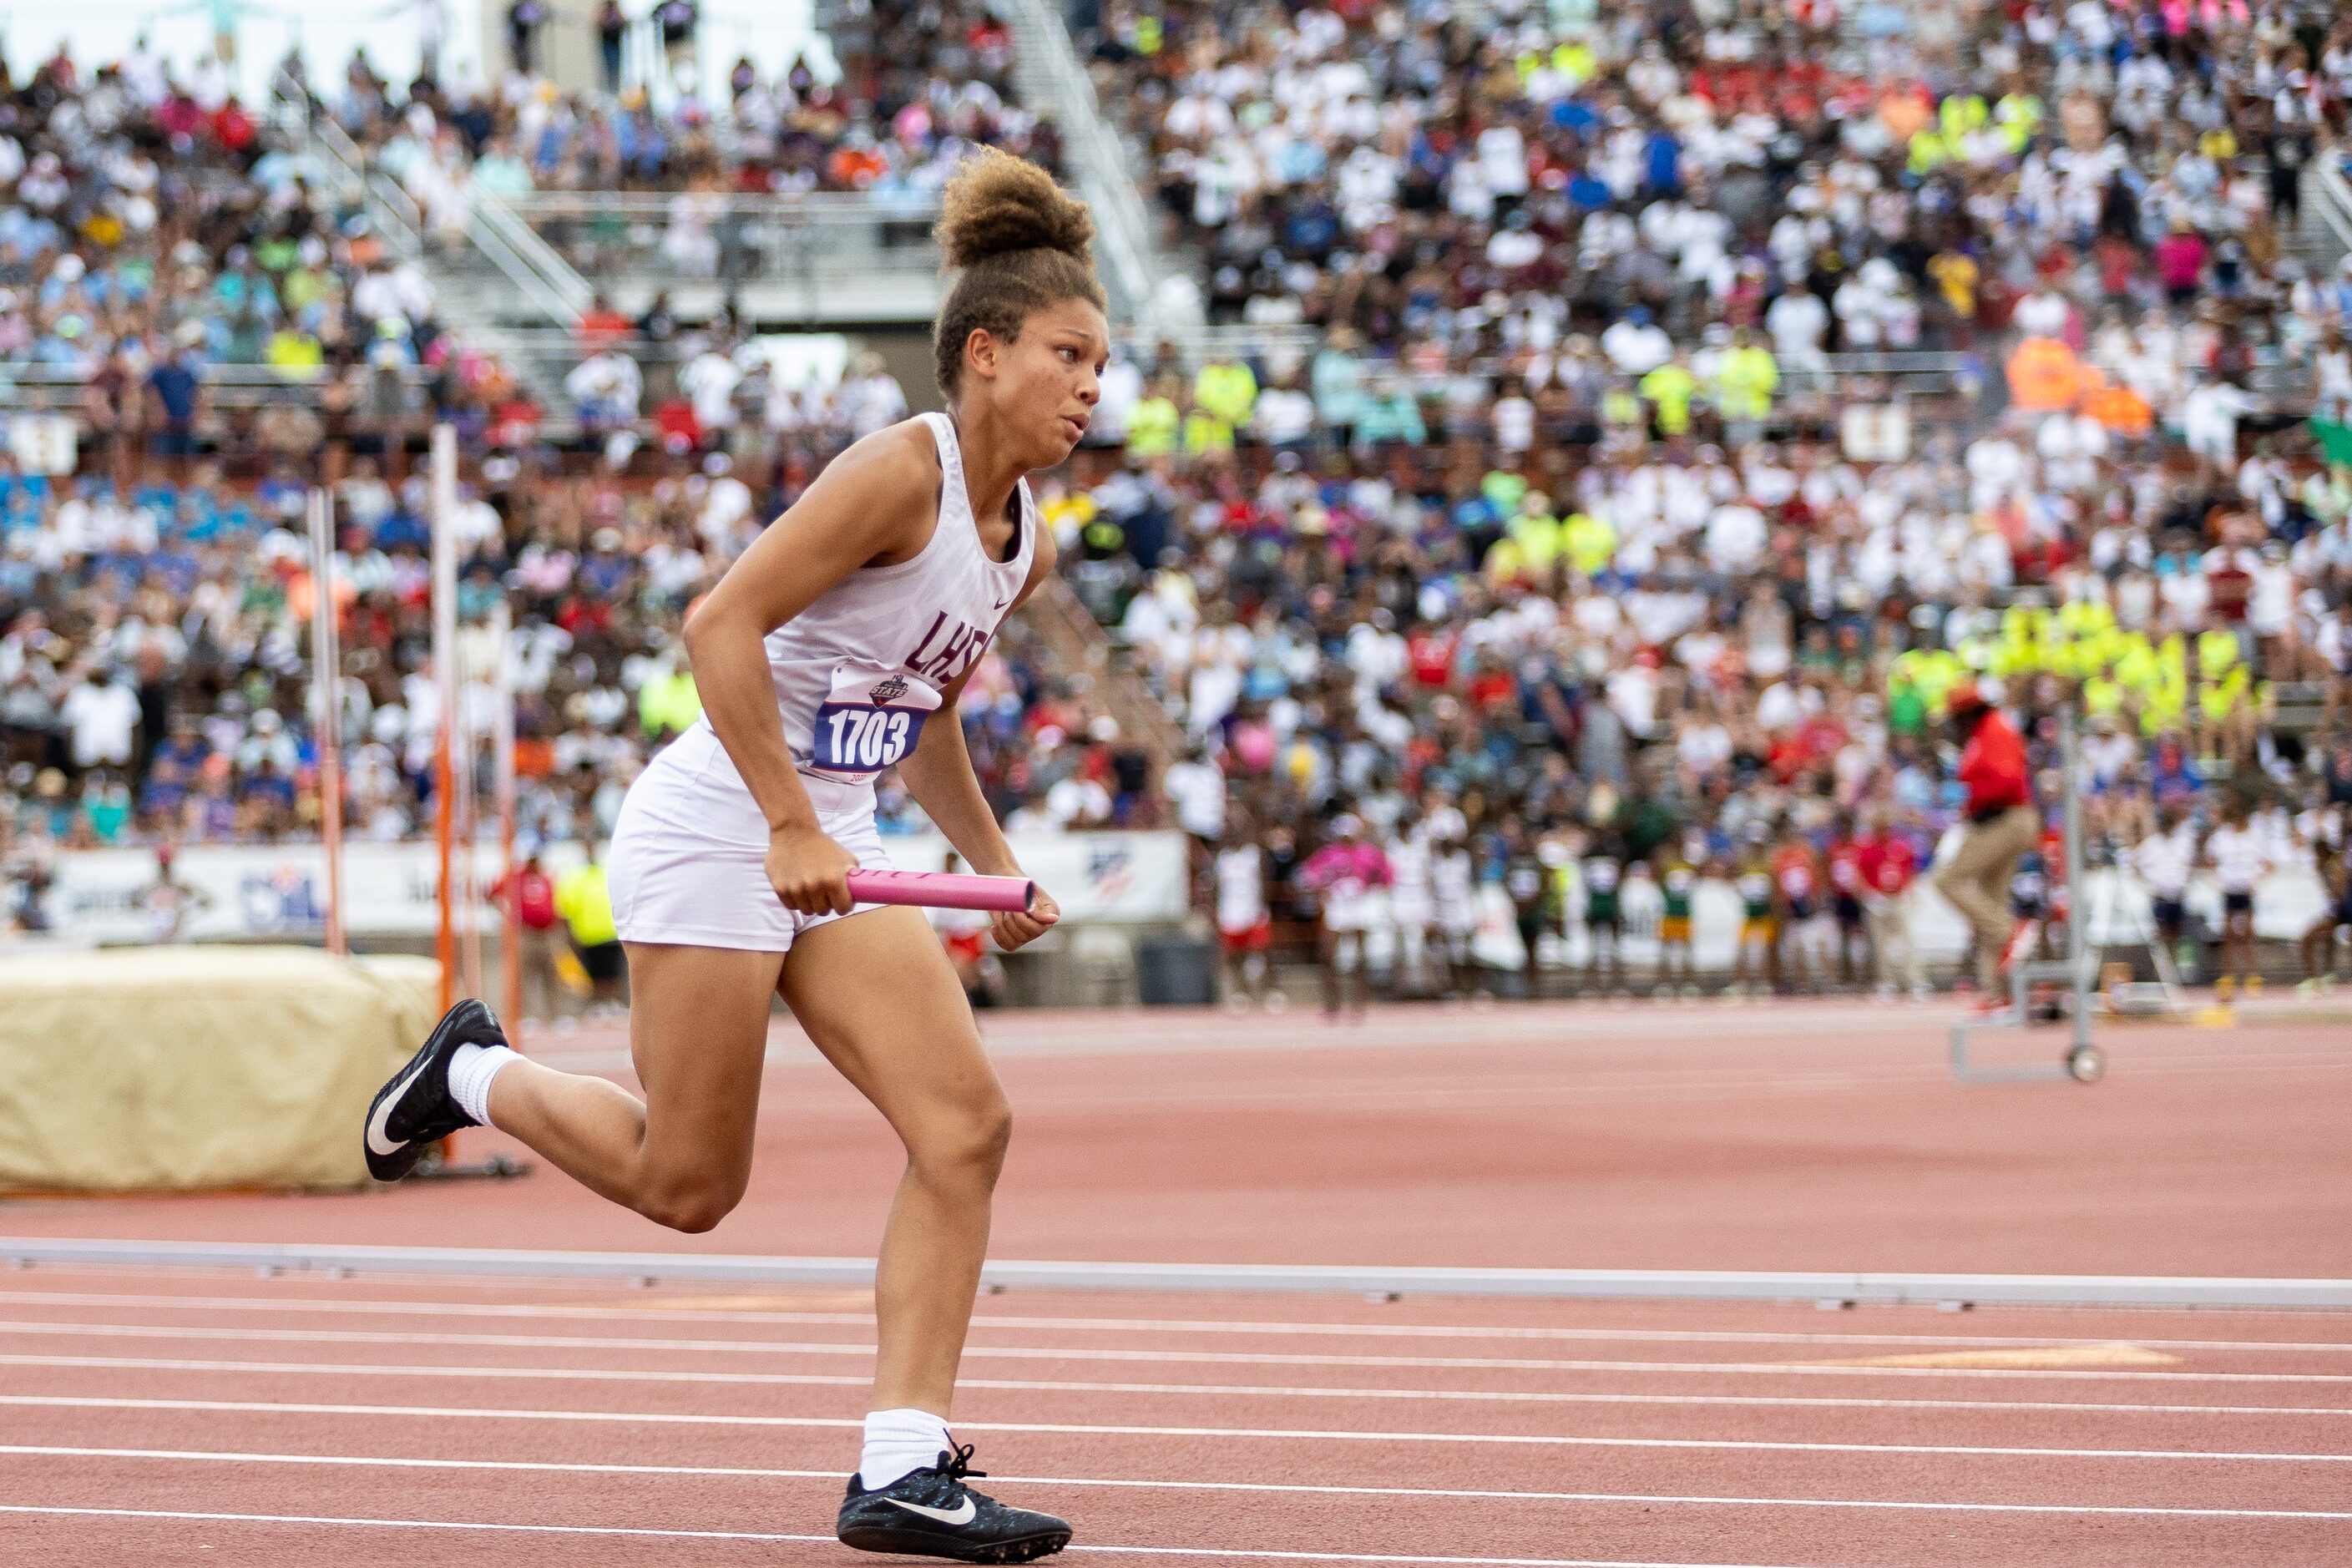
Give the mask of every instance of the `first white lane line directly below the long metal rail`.
[{"label": "first white lane line directly below the long metal rail", "polygon": [[[873,1312],[736,1312],[736,1309],[666,1309],[633,1307],[614,1300],[609,1307],[583,1307],[579,1302],[440,1302],[440,1300],[332,1300],[320,1295],[261,1298],[261,1295],[146,1295],[106,1291],[0,1291],[0,1302],[56,1305],[56,1307],[146,1307],[169,1312],[320,1312],[358,1316],[494,1316],[494,1319],[590,1319],[590,1321],[649,1321],[649,1324],[809,1324],[870,1328]],[[2298,1316],[2298,1314],[2272,1314]],[[2307,1314],[2303,1314],[2307,1316]],[[1740,1328],[1529,1328],[1472,1324],[1282,1324],[1282,1321],[1225,1321],[1225,1319],[1101,1319],[1101,1316],[1002,1316],[981,1312],[974,1328],[1040,1328],[1049,1333],[1214,1333],[1214,1335],[1310,1335],[1343,1340],[1583,1340],[1583,1342],[1653,1342],[1653,1345],[1907,1345],[1915,1349],[2042,1349],[2053,1345],[2112,1345],[2119,1335],[2063,1338],[2063,1335],[1987,1335],[1987,1333],[1771,1333]],[[2352,1354],[2352,1338],[2345,1340],[2145,1340],[2129,1335],[2133,1345],[2150,1349],[2279,1349]]]}]

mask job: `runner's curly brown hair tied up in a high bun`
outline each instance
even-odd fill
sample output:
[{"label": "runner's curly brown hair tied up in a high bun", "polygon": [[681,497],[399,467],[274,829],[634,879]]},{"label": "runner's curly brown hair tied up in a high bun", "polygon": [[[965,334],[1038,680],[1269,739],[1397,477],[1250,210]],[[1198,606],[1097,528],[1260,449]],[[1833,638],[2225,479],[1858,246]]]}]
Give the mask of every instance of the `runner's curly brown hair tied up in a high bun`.
[{"label": "runner's curly brown hair tied up in a high bun", "polygon": [[1025,158],[997,148],[967,158],[941,193],[931,233],[957,273],[931,331],[938,390],[948,397],[974,331],[1011,343],[1030,313],[1065,299],[1108,308],[1094,275],[1094,216]]}]

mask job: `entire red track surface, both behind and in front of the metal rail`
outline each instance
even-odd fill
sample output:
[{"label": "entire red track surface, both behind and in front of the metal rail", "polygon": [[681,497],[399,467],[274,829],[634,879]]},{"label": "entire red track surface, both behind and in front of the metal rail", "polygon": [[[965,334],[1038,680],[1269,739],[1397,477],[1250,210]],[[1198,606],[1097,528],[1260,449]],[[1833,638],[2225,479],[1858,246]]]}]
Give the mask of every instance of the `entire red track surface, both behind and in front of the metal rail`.
[{"label": "entire red track surface, both behind and in front of the metal rail", "polygon": [[[1957,1088],[1943,1020],[993,1018],[1021,1117],[995,1253],[2352,1272],[2345,1030],[2117,1030],[2093,1088]],[[708,1239],[553,1173],[0,1229],[866,1253],[891,1173],[781,1030],[760,1175]],[[0,1561],[847,1563],[868,1368],[851,1291],[5,1274]],[[964,1373],[990,1486],[1101,1561],[2352,1561],[2331,1314],[1014,1293]]]}]

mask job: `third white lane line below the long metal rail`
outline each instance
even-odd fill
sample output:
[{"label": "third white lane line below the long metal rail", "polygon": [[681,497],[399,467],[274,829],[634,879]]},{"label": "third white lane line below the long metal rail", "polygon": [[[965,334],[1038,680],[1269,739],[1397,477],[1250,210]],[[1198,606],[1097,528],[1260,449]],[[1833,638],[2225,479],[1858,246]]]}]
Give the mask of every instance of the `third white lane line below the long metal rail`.
[{"label": "third white lane line below the long metal rail", "polygon": [[[82,1371],[143,1373],[266,1373],[325,1378],[459,1378],[510,1382],[713,1382],[762,1387],[840,1387],[863,1389],[873,1380],[828,1373],[701,1373],[677,1368],[612,1366],[421,1366],[353,1361],[219,1361],[195,1356],[21,1356],[0,1354],[0,1366],[59,1366]],[[1049,1382],[1033,1378],[960,1378],[960,1389],[995,1389],[1014,1394],[1202,1394],[1214,1399],[1406,1399],[1458,1403],[1564,1403],[1564,1406],[1675,1406],[1675,1408],[1748,1408],[1748,1410],[2032,1410],[2084,1415],[2352,1415],[2336,1406],[2152,1406],[2086,1403],[2070,1399],[1783,1399],[1769,1394],[1559,1394],[1522,1389],[1348,1389],[1282,1387],[1230,1382]]]}]

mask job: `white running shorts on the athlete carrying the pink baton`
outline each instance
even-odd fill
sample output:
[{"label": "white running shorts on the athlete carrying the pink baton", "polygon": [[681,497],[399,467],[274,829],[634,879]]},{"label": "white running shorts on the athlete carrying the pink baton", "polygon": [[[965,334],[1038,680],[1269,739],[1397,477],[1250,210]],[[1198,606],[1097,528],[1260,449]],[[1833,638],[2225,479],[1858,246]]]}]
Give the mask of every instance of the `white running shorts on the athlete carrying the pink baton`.
[{"label": "white running shorts on the athlete carrying the pink baton", "polygon": [[[800,776],[816,825],[866,870],[891,870],[873,785]],[[612,914],[623,943],[786,952],[840,914],[795,914],[767,879],[767,818],[727,748],[696,724],[628,785],[612,830]],[[861,903],[851,914],[880,910]]]}]

